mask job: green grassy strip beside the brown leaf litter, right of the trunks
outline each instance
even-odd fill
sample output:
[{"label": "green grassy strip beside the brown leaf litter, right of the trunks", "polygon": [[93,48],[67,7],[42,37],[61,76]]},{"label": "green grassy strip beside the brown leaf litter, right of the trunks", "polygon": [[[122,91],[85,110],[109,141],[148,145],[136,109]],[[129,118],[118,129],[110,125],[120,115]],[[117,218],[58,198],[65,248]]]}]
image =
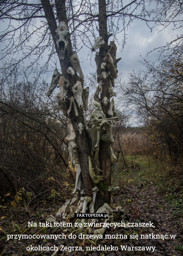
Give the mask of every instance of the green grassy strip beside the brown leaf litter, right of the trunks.
[{"label": "green grassy strip beside the brown leaf litter, right of the trunks", "polygon": [[118,179],[120,184],[141,184],[150,182],[156,187],[170,207],[174,208],[175,216],[183,216],[183,170],[170,163],[160,162],[152,156],[127,156],[128,167],[122,161],[119,164]]}]

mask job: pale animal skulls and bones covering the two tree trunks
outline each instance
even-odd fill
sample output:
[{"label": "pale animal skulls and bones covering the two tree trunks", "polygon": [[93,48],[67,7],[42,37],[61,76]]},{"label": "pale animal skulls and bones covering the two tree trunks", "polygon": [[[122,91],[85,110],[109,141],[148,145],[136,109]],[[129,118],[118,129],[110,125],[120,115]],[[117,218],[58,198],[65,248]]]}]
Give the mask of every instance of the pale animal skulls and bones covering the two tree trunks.
[{"label": "pale animal skulls and bones covering the two tree trunks", "polygon": [[[63,61],[65,57],[65,52],[68,47],[68,39],[69,39],[69,30],[65,22],[61,21],[59,23],[59,26],[56,29],[56,35],[57,40],[56,44],[59,51],[59,58],[61,61]],[[99,38],[96,39],[94,46],[92,47],[92,52],[96,51],[97,49],[100,49],[105,44],[104,39],[102,36],[99,36]],[[113,135],[112,135],[112,126],[111,121],[115,122],[117,120],[117,114],[114,111],[114,98],[111,100],[108,99],[106,96],[99,97],[99,93],[102,94],[103,92],[103,86],[106,85],[107,79],[109,80],[109,98],[116,96],[116,93],[113,92],[114,87],[114,79],[117,78],[117,62],[121,59],[116,59],[116,50],[117,47],[113,41],[110,42],[110,45],[108,46],[108,53],[106,57],[103,59],[103,62],[101,66],[99,67],[99,53],[96,53],[95,56],[95,62],[97,65],[97,81],[98,81],[98,87],[94,95],[95,100],[95,107],[96,110],[90,115],[90,120],[82,123],[81,121],[77,124],[77,129],[74,130],[73,124],[71,120],[69,119],[72,111],[72,107],[74,106],[74,113],[75,116],[78,117],[78,110],[81,109],[83,111],[86,111],[88,109],[88,95],[89,95],[89,87],[84,88],[84,76],[83,72],[81,70],[80,61],[77,56],[77,53],[73,51],[72,56],[70,56],[68,68],[66,69],[66,76],[69,79],[73,77],[77,77],[77,81],[70,86],[70,81],[72,79],[67,79],[64,75],[59,73],[57,69],[55,69],[53,76],[52,76],[52,82],[48,89],[48,97],[51,95],[52,91],[56,88],[56,86],[59,84],[60,93],[57,95],[58,103],[60,108],[63,111],[63,114],[65,117],[68,118],[67,120],[67,127],[68,127],[68,135],[65,138],[65,141],[68,141],[68,151],[70,154],[70,163],[71,168],[76,165],[77,160],[77,144],[74,141],[76,136],[81,136],[82,132],[85,132],[87,134],[88,138],[88,144],[90,147],[90,150],[93,152],[93,157],[95,157],[95,152],[97,150],[97,147],[99,146],[100,140],[105,141],[110,145],[112,156],[116,159],[115,154],[112,150],[112,143],[114,142]],[[78,76],[77,76],[78,74]],[[68,91],[69,90],[69,91]],[[110,116],[109,118],[106,118],[106,115],[102,111],[102,106],[108,106],[108,112],[107,114]],[[72,112],[73,113],[73,112]],[[79,119],[78,119],[79,120]],[[95,161],[93,160],[92,163]],[[100,181],[102,181],[105,176],[101,175],[102,171],[95,166],[93,168],[91,163],[91,158],[88,157],[88,163],[89,163],[89,174],[92,179],[92,182],[95,184],[98,184]],[[117,170],[118,165],[117,163],[112,164],[112,177],[114,180],[114,187],[109,186],[108,191],[112,192],[115,190],[119,190],[119,187],[117,186]],[[96,175],[95,173],[98,173]],[[77,206],[74,206],[74,202],[78,198],[78,192],[80,192],[82,197],[80,196],[79,203]],[[74,198],[71,201],[66,201],[66,204],[61,207],[59,210],[58,215],[62,215],[62,218],[65,216],[66,207],[69,205],[70,207],[70,213],[80,212],[82,213],[86,212],[87,205],[90,203],[89,210],[91,213],[94,212],[95,207],[95,198],[96,194],[99,191],[98,187],[95,186],[93,188],[93,199],[91,197],[84,196],[84,189],[81,190],[81,167],[80,163],[77,164],[77,173],[76,173],[76,183],[75,188],[73,191]],[[104,207],[104,206],[103,206]],[[107,205],[107,207],[109,207]],[[104,207],[105,208],[105,207]],[[102,211],[102,209],[100,208]],[[84,221],[84,220],[82,220]]]}]

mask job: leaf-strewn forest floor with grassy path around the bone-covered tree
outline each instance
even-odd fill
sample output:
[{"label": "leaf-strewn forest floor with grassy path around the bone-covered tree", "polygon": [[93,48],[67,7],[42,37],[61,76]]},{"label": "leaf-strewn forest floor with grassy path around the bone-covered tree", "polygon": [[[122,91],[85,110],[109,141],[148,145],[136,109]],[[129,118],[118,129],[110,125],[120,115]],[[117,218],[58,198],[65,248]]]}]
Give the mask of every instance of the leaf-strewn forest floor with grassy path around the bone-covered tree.
[{"label": "leaf-strewn forest floor with grassy path around the bone-covered tree", "polygon": [[[69,234],[86,234],[86,231],[68,228],[28,227],[28,221],[45,222],[63,203],[42,200],[37,205],[26,207],[3,206],[0,208],[0,256],[52,255],[53,251],[27,251],[30,246],[64,247],[78,246],[84,251],[59,251],[56,255],[183,255],[183,184],[182,170],[160,164],[152,158],[135,156],[128,159],[128,168],[119,168],[120,192],[112,197],[111,207],[124,209],[123,220],[131,223],[153,223],[153,227],[110,227],[105,234],[126,235],[124,239],[69,239]],[[59,220],[58,220],[59,221]],[[122,218],[118,220],[121,223]],[[93,234],[94,228],[92,229]],[[15,234],[66,234],[66,239],[9,239]],[[132,235],[134,238],[131,238]],[[144,238],[141,235],[146,235]],[[151,235],[151,236],[150,236]],[[156,235],[160,235],[156,237]],[[167,235],[167,236],[166,236]],[[171,236],[170,235],[175,235]],[[136,238],[135,238],[136,237]],[[15,237],[13,237],[15,238]],[[114,246],[118,251],[86,251],[86,246]],[[121,246],[126,247],[126,251]],[[151,247],[150,250],[149,248]],[[152,247],[154,252],[152,252]],[[111,248],[111,247],[110,247]],[[113,248],[113,247],[112,247]],[[138,248],[138,251],[135,251]],[[129,250],[131,249],[131,250]]]}]

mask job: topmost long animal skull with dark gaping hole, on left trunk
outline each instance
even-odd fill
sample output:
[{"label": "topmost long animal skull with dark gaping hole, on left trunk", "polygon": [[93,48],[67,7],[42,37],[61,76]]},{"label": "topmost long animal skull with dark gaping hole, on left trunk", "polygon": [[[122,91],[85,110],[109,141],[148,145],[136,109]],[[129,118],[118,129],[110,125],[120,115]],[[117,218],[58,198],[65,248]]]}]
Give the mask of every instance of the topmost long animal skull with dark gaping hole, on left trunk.
[{"label": "topmost long animal skull with dark gaping hole, on left trunk", "polygon": [[58,36],[56,40],[57,47],[59,49],[60,59],[64,59],[65,50],[68,46],[68,38],[69,38],[69,29],[65,21],[60,21],[59,25],[56,29],[56,34]]}]

